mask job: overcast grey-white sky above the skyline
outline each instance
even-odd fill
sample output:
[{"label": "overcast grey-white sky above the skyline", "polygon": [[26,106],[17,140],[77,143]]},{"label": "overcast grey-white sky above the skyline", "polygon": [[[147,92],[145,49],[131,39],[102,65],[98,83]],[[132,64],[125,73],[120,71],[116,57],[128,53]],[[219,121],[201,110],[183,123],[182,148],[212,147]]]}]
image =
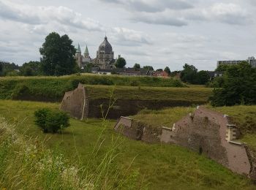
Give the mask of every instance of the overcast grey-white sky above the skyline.
[{"label": "overcast grey-white sky above the skyline", "polygon": [[127,66],[214,70],[256,56],[255,0],[0,0],[0,60],[39,61],[52,31],[91,58],[107,34]]}]

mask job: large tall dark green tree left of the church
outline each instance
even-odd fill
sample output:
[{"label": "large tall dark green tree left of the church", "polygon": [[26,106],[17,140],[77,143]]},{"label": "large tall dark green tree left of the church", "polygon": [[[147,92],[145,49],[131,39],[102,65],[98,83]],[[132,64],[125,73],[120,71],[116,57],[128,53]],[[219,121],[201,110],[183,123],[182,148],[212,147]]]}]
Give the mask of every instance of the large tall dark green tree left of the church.
[{"label": "large tall dark green tree left of the church", "polygon": [[76,50],[67,34],[61,37],[56,32],[50,33],[39,52],[45,75],[70,75],[75,72]]}]

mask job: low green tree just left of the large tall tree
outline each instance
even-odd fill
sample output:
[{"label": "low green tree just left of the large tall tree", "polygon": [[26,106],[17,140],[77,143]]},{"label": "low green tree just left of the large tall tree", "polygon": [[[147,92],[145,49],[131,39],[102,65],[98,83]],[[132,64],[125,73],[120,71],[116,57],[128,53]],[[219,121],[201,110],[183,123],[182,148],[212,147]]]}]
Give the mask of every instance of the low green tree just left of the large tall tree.
[{"label": "low green tree just left of the large tall tree", "polygon": [[20,75],[37,76],[42,75],[42,64],[39,61],[29,61],[20,67]]}]

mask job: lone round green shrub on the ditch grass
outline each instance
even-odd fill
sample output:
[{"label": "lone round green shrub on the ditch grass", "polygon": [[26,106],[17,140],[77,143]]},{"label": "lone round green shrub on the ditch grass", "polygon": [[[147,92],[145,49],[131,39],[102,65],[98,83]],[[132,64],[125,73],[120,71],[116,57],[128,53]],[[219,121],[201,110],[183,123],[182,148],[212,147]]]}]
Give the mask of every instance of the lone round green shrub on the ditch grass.
[{"label": "lone round green shrub on the ditch grass", "polygon": [[69,115],[67,113],[42,108],[34,112],[35,123],[43,132],[63,132],[69,126]]}]

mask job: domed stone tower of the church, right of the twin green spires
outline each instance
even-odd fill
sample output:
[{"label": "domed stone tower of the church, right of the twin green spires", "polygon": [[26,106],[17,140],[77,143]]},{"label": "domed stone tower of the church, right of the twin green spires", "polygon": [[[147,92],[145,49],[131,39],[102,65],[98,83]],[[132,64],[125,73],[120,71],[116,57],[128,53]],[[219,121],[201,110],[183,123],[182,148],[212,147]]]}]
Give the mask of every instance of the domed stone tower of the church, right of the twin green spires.
[{"label": "domed stone tower of the church, right of the twin green spires", "polygon": [[110,45],[110,42],[108,42],[108,37],[105,37],[104,41],[99,45],[97,58],[94,59],[94,64],[101,69],[112,69],[114,62],[112,46]]}]

